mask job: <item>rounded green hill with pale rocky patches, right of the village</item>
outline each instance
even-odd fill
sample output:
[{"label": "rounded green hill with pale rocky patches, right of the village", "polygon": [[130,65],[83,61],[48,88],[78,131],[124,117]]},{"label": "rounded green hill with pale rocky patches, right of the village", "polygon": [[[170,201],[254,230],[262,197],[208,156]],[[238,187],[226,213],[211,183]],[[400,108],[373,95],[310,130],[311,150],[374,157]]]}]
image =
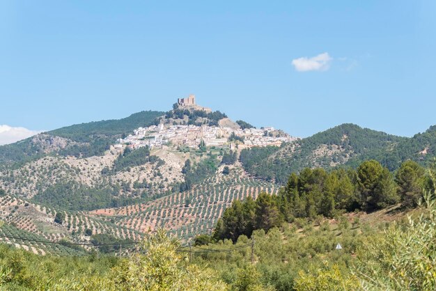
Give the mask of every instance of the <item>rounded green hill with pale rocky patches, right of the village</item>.
[{"label": "rounded green hill with pale rocky patches, right of the village", "polygon": [[242,150],[240,160],[252,175],[284,184],[290,173],[303,168],[357,166],[403,141],[407,138],[343,124],[281,147]]}]

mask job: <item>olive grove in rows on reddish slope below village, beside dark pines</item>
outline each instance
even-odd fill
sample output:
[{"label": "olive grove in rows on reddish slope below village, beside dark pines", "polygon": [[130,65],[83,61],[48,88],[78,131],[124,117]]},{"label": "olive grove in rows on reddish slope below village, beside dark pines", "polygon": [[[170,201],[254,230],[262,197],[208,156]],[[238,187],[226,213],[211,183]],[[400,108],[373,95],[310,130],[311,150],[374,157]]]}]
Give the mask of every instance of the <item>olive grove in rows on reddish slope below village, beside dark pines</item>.
[{"label": "olive grove in rows on reddish slope below village, beside dark pines", "polygon": [[277,185],[254,180],[244,175],[240,168],[234,168],[230,175],[215,175],[190,191],[171,194],[149,203],[93,213],[140,233],[165,228],[186,240],[210,233],[233,200],[244,200],[247,196],[256,198],[262,191],[277,194],[278,190]]}]

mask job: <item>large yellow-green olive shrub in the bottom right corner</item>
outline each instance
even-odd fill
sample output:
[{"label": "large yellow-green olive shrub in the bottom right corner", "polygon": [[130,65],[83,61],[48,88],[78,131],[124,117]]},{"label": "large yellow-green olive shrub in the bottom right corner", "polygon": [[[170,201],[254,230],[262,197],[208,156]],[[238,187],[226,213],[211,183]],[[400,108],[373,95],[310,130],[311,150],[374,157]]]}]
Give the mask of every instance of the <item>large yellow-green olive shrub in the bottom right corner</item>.
[{"label": "large yellow-green olive shrub in the bottom right corner", "polygon": [[403,228],[394,224],[361,250],[355,274],[370,290],[436,290],[436,200],[425,195],[425,213]]}]

